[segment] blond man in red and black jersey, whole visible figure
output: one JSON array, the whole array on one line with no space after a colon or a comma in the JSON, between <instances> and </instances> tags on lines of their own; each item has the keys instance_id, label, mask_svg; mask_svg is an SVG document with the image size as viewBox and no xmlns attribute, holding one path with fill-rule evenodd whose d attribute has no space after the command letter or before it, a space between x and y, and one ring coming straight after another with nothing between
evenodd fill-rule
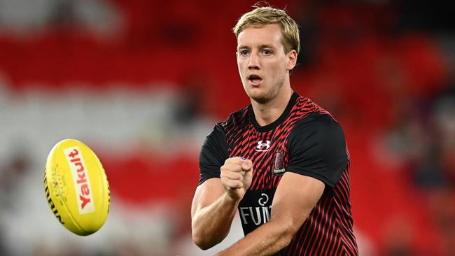
<instances>
[{"instance_id":1,"label":"blond man in red and black jersey, whole visible figure","mask_svg":"<svg viewBox=\"0 0 455 256\"><path fill-rule=\"evenodd\" d=\"M297 24L284 10L260 7L234 32L251 105L204 141L193 241L203 250L220 243L238 209L246 236L218 255L358 255L343 131L290 87Z\"/></svg>"}]
</instances>

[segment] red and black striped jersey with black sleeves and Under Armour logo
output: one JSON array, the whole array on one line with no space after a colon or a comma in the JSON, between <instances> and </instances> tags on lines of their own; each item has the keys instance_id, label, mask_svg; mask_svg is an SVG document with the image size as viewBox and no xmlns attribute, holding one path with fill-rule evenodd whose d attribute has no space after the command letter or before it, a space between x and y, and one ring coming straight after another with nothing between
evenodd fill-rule
<instances>
[{"instance_id":1,"label":"red and black striped jersey with black sleeves and Under Armour logo","mask_svg":"<svg viewBox=\"0 0 455 256\"><path fill-rule=\"evenodd\" d=\"M330 113L293 93L281 116L266 126L250 106L216 124L200 153L200 183L220 178L228 157L253 162L251 186L239 204L244 234L267 222L279 180L290 171L317 178L325 190L290 244L277 255L358 255L351 217L349 153Z\"/></svg>"}]
</instances>

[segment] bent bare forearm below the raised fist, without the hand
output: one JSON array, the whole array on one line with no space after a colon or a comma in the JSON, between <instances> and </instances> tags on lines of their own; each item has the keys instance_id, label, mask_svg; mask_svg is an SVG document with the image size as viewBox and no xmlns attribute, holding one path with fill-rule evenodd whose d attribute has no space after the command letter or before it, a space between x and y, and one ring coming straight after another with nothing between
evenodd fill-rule
<instances>
[{"instance_id":1,"label":"bent bare forearm below the raised fist, without the hand","mask_svg":"<svg viewBox=\"0 0 455 256\"><path fill-rule=\"evenodd\" d=\"M220 243L228 235L239 202L227 194L195 213L192 220L193 241L202 250Z\"/></svg>"}]
</instances>

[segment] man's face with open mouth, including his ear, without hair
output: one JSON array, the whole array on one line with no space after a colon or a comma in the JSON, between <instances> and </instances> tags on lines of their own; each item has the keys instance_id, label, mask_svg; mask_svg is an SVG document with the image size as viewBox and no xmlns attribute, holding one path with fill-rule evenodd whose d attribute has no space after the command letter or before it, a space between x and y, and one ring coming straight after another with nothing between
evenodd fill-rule
<instances>
[{"instance_id":1,"label":"man's face with open mouth, including his ear, without hair","mask_svg":"<svg viewBox=\"0 0 455 256\"><path fill-rule=\"evenodd\" d=\"M248 97L264 104L279 93L295 65L290 64L289 54L283 50L279 24L247 27L240 32L237 65Z\"/></svg>"}]
</instances>

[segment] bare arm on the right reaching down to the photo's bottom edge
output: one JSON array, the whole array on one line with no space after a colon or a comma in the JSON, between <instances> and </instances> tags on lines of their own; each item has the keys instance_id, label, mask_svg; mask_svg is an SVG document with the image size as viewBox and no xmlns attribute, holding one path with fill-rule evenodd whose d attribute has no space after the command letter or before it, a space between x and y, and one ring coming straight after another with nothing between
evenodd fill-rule
<instances>
[{"instance_id":1,"label":"bare arm on the right reaching down to the photo's bottom edge","mask_svg":"<svg viewBox=\"0 0 455 256\"><path fill-rule=\"evenodd\" d=\"M218 255L273 255L288 246L324 192L316 178L286 172L272 202L269 222Z\"/></svg>"}]
</instances>

